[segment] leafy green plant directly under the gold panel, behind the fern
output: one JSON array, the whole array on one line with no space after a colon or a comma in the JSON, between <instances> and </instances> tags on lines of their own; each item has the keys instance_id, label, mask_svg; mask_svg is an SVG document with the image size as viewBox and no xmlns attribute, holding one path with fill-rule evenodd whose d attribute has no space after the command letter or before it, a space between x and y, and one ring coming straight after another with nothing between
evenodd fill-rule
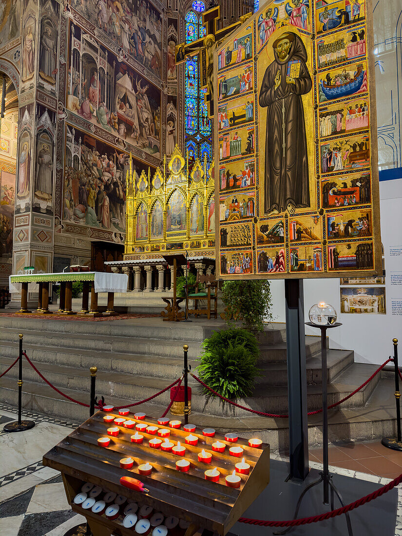
<instances>
[{"instance_id":1,"label":"leafy green plant directly under the gold panel, behind the fern","mask_svg":"<svg viewBox=\"0 0 402 536\"><path fill-rule=\"evenodd\" d=\"M222 285L222 301L225 303L225 320L228 325L241 319L245 329L259 333L264 331L264 321L272 320L271 291L265 279L225 281Z\"/></svg>"}]
</instances>

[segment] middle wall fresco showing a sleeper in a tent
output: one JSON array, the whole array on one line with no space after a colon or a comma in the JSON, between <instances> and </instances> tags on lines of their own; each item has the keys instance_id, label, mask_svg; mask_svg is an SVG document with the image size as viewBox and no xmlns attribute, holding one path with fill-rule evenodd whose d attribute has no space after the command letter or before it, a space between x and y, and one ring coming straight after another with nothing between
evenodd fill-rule
<instances>
[{"instance_id":1,"label":"middle wall fresco showing a sleeper in a tent","mask_svg":"<svg viewBox=\"0 0 402 536\"><path fill-rule=\"evenodd\" d=\"M66 108L126 143L160 156L160 90L110 51L94 47L77 26L71 34Z\"/></svg>"}]
</instances>

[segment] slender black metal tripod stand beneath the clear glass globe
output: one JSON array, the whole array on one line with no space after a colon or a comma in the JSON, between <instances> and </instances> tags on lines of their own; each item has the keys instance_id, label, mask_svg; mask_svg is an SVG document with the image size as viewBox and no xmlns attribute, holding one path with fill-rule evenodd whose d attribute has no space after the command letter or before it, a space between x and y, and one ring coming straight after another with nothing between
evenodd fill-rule
<instances>
[{"instance_id":1,"label":"slender black metal tripod stand beneath the clear glass globe","mask_svg":"<svg viewBox=\"0 0 402 536\"><path fill-rule=\"evenodd\" d=\"M301 503L303 501L303 497L307 494L307 492L313 488L314 486L317 486L319 483L323 482L323 504L327 505L331 503L331 510L333 510L333 499L334 494L337 495L339 502L341 506L345 506L343 498L341 497L340 493L338 492L338 489L335 487L334 483L332 482L332 474L329 472L329 463L328 463L328 393L327 393L327 364L326 364L326 330L330 327L339 327L342 324L340 322L336 322L334 324L327 324L327 325L317 325L313 324L312 322L306 322L306 325L310 327L318 327L321 329L321 369L322 369L322 385L323 385L323 471L319 473L319 479L315 480L314 482L311 482L305 488L302 492L302 494L299 497L299 501L297 501L296 510L293 519L297 519L297 515L299 513L299 509L301 507ZM330 489L331 489L331 498L330 498ZM351 519L349 517L349 513L345 513L346 517L346 524L347 524L347 530L349 536L353 536L352 531L352 524ZM284 531L274 532L274 534L286 534L292 530L292 527L287 527Z\"/></svg>"}]
</instances>

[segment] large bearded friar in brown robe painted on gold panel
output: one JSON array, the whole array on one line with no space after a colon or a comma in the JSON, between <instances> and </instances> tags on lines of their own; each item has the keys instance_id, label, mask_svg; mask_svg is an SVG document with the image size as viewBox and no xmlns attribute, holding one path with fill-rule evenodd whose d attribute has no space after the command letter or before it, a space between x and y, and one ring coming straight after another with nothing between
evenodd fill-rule
<instances>
[{"instance_id":1,"label":"large bearded friar in brown robe painted on gold panel","mask_svg":"<svg viewBox=\"0 0 402 536\"><path fill-rule=\"evenodd\" d=\"M307 51L299 35L282 34L273 43L274 61L267 67L259 106L267 108L264 212L294 213L310 206L306 126L302 95L311 91ZM290 76L289 62L295 63ZM289 69L288 69L289 66Z\"/></svg>"}]
</instances>

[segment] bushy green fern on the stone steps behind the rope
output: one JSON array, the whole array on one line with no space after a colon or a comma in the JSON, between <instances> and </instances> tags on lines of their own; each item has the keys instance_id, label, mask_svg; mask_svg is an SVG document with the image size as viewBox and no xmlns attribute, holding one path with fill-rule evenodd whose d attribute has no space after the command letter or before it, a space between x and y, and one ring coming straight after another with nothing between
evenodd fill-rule
<instances>
[{"instance_id":1,"label":"bushy green fern on the stone steps behind the rope","mask_svg":"<svg viewBox=\"0 0 402 536\"><path fill-rule=\"evenodd\" d=\"M203 343L198 374L214 391L226 398L251 396L254 380L259 376L256 367L259 355L254 334L241 327L214 331ZM211 392L203 388L205 394Z\"/></svg>"}]
</instances>

